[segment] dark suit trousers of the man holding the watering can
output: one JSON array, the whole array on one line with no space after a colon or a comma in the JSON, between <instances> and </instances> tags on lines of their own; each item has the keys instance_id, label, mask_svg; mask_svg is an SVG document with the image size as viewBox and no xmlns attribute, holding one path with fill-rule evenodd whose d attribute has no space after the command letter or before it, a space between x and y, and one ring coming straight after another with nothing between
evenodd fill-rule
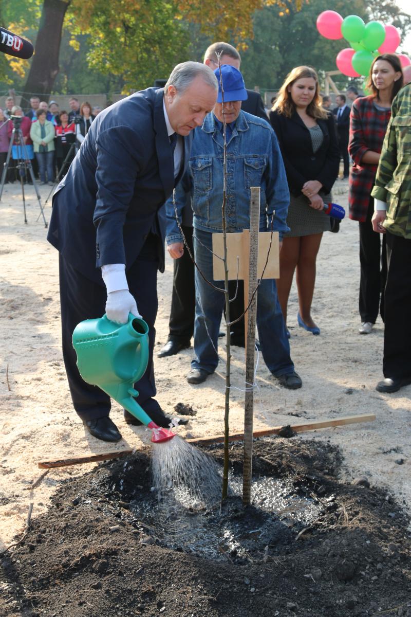
<instances>
[{"instance_id":1,"label":"dark suit trousers of the man holding the watering can","mask_svg":"<svg viewBox=\"0 0 411 617\"><path fill-rule=\"evenodd\" d=\"M149 234L145 244L127 272L129 291L136 298L137 308L149 326L149 364L142 378L134 387L139 391L136 399L145 412L160 408L156 394L153 347L155 318L157 316L157 267L160 238ZM90 386L81 378L76 366L76 352L71 344L76 325L85 319L101 317L105 313L107 292L104 284L98 285L75 270L60 255L60 304L62 315L63 359L70 386L73 406L82 420L108 416L110 397L97 386Z\"/></svg>"}]
</instances>

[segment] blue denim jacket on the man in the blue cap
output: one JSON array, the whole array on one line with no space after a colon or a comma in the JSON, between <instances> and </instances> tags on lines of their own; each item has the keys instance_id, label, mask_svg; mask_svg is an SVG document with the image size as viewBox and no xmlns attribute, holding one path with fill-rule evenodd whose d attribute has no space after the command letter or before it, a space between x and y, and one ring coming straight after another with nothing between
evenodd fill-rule
<instances>
[{"instance_id":1,"label":"blue denim jacket on the man in the blue cap","mask_svg":"<svg viewBox=\"0 0 411 617\"><path fill-rule=\"evenodd\" d=\"M203 126L194 130L187 172L176 188L176 209L181 222L186 194L192 197L193 227L222 231L223 137L213 112ZM260 231L274 231L280 239L289 231L287 211L290 203L287 176L274 130L265 120L241 111L227 144L226 222L227 232L250 228L250 187L261 188ZM173 197L166 202L167 244L182 242L176 222Z\"/></svg>"}]
</instances>

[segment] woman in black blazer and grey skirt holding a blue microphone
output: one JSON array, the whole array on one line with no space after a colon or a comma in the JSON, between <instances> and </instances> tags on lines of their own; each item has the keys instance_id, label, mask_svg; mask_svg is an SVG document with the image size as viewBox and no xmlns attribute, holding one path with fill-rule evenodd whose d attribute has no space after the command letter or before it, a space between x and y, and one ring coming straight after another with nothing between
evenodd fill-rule
<instances>
[{"instance_id":1,"label":"woman in black blazer and grey skirt holding a blue microphone","mask_svg":"<svg viewBox=\"0 0 411 617\"><path fill-rule=\"evenodd\" d=\"M320 334L311 317L315 260L322 233L330 231L323 205L332 201L330 191L340 165L334 119L322 109L320 100L315 70L296 67L287 75L269 115L290 188L290 232L285 234L280 252L279 300L287 323L288 296L296 270L298 324L312 334Z\"/></svg>"}]
</instances>

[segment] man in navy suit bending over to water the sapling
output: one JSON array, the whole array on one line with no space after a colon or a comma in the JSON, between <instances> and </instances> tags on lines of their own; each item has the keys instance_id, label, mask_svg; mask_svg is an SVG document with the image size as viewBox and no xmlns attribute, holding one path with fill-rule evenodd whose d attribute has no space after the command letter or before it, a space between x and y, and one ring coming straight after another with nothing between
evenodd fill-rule
<instances>
[{"instance_id":1,"label":"man in navy suit bending over to water the sapling","mask_svg":"<svg viewBox=\"0 0 411 617\"><path fill-rule=\"evenodd\" d=\"M161 206L188 164L192 136L213 109L218 83L198 62L184 62L164 89L147 88L102 111L91 125L53 197L47 239L60 251L63 358L76 412L104 441L121 434L110 420L110 398L79 375L73 329L105 312L126 323L129 313L149 325L149 364L136 383L137 402L168 426L153 373L157 270L164 270ZM137 300L137 302L136 302ZM138 309L137 309L138 305ZM128 412L126 422L136 424Z\"/></svg>"}]
</instances>

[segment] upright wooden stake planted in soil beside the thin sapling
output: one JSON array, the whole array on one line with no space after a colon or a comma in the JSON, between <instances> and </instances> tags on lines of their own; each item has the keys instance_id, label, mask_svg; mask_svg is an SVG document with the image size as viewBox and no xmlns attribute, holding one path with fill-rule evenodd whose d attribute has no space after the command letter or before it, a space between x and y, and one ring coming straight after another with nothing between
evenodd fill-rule
<instances>
[{"instance_id":1,"label":"upright wooden stake planted in soil beside the thin sapling","mask_svg":"<svg viewBox=\"0 0 411 617\"><path fill-rule=\"evenodd\" d=\"M244 272L244 307L251 302L253 291L257 286L258 267L258 230L260 210L260 188L251 187L250 199L250 233L245 235L248 252L248 268ZM257 294L253 297L244 316L246 356L245 356L245 404L244 404L244 458L243 458L243 503L251 500L251 475L253 463L253 416L254 416L254 350L256 341Z\"/></svg>"}]
</instances>

